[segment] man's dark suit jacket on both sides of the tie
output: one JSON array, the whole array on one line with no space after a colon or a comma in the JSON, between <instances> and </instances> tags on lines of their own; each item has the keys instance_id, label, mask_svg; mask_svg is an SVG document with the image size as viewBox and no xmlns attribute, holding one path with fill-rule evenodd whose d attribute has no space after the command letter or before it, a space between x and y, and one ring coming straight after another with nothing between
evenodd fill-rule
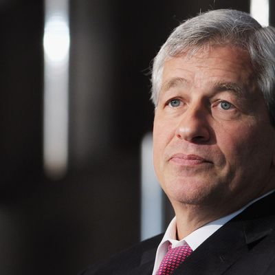
<instances>
[{"instance_id":1,"label":"man's dark suit jacket on both sides of the tie","mask_svg":"<svg viewBox=\"0 0 275 275\"><path fill-rule=\"evenodd\" d=\"M275 275L275 194L256 201L192 252L173 274ZM115 254L81 275L151 275L163 235Z\"/></svg>"}]
</instances>

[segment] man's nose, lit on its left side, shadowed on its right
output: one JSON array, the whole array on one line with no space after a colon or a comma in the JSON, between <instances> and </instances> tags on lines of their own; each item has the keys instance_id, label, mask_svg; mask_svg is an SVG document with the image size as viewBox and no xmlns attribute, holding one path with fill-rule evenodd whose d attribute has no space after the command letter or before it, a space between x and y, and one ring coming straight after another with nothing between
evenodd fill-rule
<instances>
[{"instance_id":1,"label":"man's nose, lit on its left side, shadowed on its right","mask_svg":"<svg viewBox=\"0 0 275 275\"><path fill-rule=\"evenodd\" d=\"M208 111L204 107L189 106L181 115L175 135L188 142L205 143L210 140Z\"/></svg>"}]
</instances>

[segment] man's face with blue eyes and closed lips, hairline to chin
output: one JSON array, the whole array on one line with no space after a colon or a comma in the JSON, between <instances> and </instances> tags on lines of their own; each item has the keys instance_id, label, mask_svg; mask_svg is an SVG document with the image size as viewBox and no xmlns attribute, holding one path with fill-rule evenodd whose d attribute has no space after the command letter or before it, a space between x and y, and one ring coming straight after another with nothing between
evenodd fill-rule
<instances>
[{"instance_id":1,"label":"man's face with blue eyes and closed lips, hairline to chin","mask_svg":"<svg viewBox=\"0 0 275 275\"><path fill-rule=\"evenodd\" d=\"M225 214L272 189L274 137L248 54L212 46L166 61L153 145L172 203Z\"/></svg>"}]
</instances>

